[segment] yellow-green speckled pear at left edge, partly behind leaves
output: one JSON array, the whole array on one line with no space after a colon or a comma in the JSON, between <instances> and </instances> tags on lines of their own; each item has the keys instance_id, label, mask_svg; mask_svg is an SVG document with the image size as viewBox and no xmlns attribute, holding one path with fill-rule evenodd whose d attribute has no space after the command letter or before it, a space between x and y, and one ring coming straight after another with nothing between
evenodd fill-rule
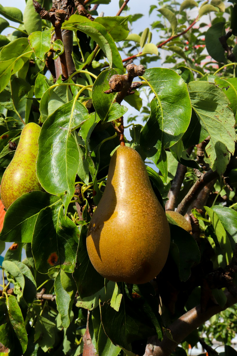
<instances>
[{"instance_id":1,"label":"yellow-green speckled pear at left edge, partly behind leaves","mask_svg":"<svg viewBox=\"0 0 237 356\"><path fill-rule=\"evenodd\" d=\"M40 126L34 122L24 126L14 157L2 176L0 193L6 209L21 195L42 190L36 176L40 130Z\"/></svg>"}]
</instances>

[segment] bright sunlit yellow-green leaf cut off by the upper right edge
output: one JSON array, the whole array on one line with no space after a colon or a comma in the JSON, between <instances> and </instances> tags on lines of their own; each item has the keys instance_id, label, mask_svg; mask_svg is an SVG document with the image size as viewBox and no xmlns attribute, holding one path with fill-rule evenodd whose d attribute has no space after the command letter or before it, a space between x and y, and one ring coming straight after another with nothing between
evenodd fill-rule
<instances>
[{"instance_id":1,"label":"bright sunlit yellow-green leaf cut off by the upper right edge","mask_svg":"<svg viewBox=\"0 0 237 356\"><path fill-rule=\"evenodd\" d=\"M235 121L237 122L237 78L215 78L215 83L225 93L230 101L230 108L235 115Z\"/></svg>"}]
</instances>

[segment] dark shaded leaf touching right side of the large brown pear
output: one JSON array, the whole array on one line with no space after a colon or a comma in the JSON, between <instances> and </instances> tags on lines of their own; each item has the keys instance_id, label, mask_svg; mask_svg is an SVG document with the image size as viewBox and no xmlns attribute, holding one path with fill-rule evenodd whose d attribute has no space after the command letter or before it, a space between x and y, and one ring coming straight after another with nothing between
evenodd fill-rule
<instances>
[{"instance_id":1,"label":"dark shaded leaf touching right side of the large brown pear","mask_svg":"<svg viewBox=\"0 0 237 356\"><path fill-rule=\"evenodd\" d=\"M179 270L179 279L187 281L190 268L200 262L200 251L193 236L177 225L171 225L171 253Z\"/></svg>"}]
</instances>

